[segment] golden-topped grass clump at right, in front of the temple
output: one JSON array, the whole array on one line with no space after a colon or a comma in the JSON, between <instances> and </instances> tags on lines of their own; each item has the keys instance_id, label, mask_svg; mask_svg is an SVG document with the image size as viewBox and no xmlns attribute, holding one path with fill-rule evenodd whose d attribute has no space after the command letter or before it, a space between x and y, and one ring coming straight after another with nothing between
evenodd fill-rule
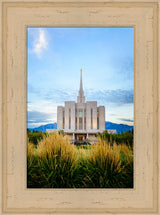
<instances>
[{"instance_id":1,"label":"golden-topped grass clump at right, in front of the temple","mask_svg":"<svg viewBox=\"0 0 160 215\"><path fill-rule=\"evenodd\" d=\"M87 160L86 184L89 187L120 187L123 183L120 154L117 146L111 147L98 140Z\"/></svg>"}]
</instances>

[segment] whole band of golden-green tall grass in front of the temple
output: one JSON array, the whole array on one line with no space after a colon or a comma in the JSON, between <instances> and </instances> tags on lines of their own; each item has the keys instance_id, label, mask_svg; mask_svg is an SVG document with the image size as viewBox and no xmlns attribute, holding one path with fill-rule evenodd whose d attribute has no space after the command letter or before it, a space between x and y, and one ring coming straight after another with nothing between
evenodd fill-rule
<instances>
[{"instance_id":1,"label":"whole band of golden-green tall grass in front of the temple","mask_svg":"<svg viewBox=\"0 0 160 215\"><path fill-rule=\"evenodd\" d=\"M28 188L133 188L133 147L98 137L75 146L58 133L28 140Z\"/></svg>"}]
</instances>

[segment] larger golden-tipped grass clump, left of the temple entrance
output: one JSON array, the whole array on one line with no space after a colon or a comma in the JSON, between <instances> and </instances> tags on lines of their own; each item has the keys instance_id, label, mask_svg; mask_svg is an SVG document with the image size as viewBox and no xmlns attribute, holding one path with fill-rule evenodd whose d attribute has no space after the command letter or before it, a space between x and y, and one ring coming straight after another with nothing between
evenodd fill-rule
<instances>
[{"instance_id":1,"label":"larger golden-tipped grass clump, left of the temple entrance","mask_svg":"<svg viewBox=\"0 0 160 215\"><path fill-rule=\"evenodd\" d=\"M80 168L77 168L75 147L63 135L53 133L39 142L35 148L36 152L33 152L30 146L28 150L29 163L30 157L34 157L34 165L28 164L28 187L71 188L75 185L80 186L81 178L77 172L80 171Z\"/></svg>"}]
</instances>

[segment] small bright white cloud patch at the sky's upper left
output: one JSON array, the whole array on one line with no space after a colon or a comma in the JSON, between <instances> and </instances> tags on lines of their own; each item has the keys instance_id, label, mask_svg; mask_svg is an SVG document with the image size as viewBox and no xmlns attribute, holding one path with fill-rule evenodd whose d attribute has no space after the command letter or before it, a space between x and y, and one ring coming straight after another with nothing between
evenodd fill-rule
<instances>
[{"instance_id":1,"label":"small bright white cloud patch at the sky's upper left","mask_svg":"<svg viewBox=\"0 0 160 215\"><path fill-rule=\"evenodd\" d=\"M42 52L48 48L46 31L42 28L38 29L38 36L35 38L33 43L32 52L38 57L41 57Z\"/></svg>"}]
</instances>

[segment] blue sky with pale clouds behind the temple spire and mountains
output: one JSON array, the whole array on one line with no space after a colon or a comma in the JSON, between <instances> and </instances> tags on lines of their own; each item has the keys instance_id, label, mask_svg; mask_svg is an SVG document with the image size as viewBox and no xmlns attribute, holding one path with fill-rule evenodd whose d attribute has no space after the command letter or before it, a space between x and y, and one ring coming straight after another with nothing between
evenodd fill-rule
<instances>
[{"instance_id":1,"label":"blue sky with pale clouds behind the temple spire and mountains","mask_svg":"<svg viewBox=\"0 0 160 215\"><path fill-rule=\"evenodd\" d=\"M104 105L106 121L133 125L132 27L27 30L28 127L57 121L57 106L76 101L80 69L87 101Z\"/></svg>"}]
</instances>

